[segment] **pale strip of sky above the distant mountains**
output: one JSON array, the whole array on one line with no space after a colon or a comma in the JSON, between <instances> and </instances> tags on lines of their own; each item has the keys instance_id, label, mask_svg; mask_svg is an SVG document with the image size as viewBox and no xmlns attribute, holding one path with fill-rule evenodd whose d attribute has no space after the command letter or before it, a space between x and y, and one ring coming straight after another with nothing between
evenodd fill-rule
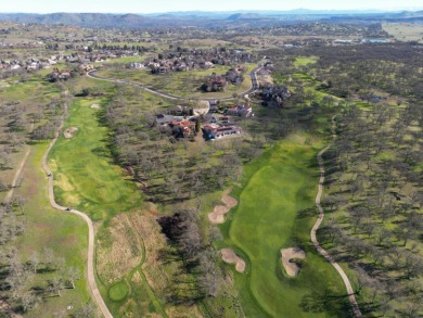
<instances>
[{"instance_id":1,"label":"pale strip of sky above the distant mountains","mask_svg":"<svg viewBox=\"0 0 423 318\"><path fill-rule=\"evenodd\" d=\"M423 10L422 0L0 0L0 12L158 13L239 10Z\"/></svg>"}]
</instances>

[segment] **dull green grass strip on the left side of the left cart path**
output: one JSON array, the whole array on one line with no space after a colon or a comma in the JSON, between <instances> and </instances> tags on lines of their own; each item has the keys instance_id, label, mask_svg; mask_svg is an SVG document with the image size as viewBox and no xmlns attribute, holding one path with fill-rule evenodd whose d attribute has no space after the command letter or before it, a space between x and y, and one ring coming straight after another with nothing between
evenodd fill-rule
<instances>
[{"instance_id":1,"label":"dull green grass strip on the left side of the left cart path","mask_svg":"<svg viewBox=\"0 0 423 318\"><path fill-rule=\"evenodd\" d=\"M53 313L66 310L69 305L78 309L90 300L86 280L87 225L77 216L50 207L47 177L41 168L41 157L47 145L39 143L31 147L31 155L23 170L24 181L15 192L27 200L24 215L26 230L18 237L16 250L21 259L26 262L33 252L37 252L42 259L43 249L51 249L56 257L65 259L64 276L69 266L79 268L84 275L75 281L75 290L66 289L61 292L60 297L46 298L42 305L30 310L27 317L54 316ZM61 277L62 274L38 274L33 279L39 285L46 285L47 280L55 275Z\"/></svg>"}]
</instances>

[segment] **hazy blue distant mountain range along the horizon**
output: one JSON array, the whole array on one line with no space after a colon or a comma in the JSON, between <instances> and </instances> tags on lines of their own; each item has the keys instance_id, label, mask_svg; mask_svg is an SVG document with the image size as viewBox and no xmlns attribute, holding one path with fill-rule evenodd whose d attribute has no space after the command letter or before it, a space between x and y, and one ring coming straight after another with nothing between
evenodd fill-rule
<instances>
[{"instance_id":1,"label":"hazy blue distant mountain range along the horizon","mask_svg":"<svg viewBox=\"0 0 423 318\"><path fill-rule=\"evenodd\" d=\"M307 21L423 22L423 11L236 11L236 12L169 12L156 14L105 13L0 13L0 21L16 23L63 24L80 27L228 27L278 25Z\"/></svg>"}]
</instances>

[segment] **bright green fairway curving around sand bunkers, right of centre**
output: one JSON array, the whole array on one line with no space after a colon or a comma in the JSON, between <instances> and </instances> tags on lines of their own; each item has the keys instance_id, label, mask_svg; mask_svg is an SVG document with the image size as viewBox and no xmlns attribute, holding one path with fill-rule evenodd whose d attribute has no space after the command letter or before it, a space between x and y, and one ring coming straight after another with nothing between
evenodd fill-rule
<instances>
[{"instance_id":1,"label":"bright green fairway curving around sand bunkers, right of centre","mask_svg":"<svg viewBox=\"0 0 423 318\"><path fill-rule=\"evenodd\" d=\"M297 135L282 141L246 167L229 243L249 260L248 274L236 274L235 281L251 317L347 315L342 280L309 237L317 216L316 153L322 144L304 140ZM307 254L295 278L286 276L280 260L280 249L291 246Z\"/></svg>"}]
</instances>

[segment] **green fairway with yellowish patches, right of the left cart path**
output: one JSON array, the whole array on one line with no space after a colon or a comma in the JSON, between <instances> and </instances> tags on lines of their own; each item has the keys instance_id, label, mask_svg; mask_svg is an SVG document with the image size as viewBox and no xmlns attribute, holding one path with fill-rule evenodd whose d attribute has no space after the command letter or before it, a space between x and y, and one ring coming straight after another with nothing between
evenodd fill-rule
<instances>
[{"instance_id":1,"label":"green fairway with yellowish patches, right of the left cart path","mask_svg":"<svg viewBox=\"0 0 423 318\"><path fill-rule=\"evenodd\" d=\"M93 220L105 220L140 204L136 186L123 178L121 169L112 163L107 148L107 128L98 122L101 99L75 99L69 106L64 129L78 128L73 138L61 135L50 154L57 202L89 214Z\"/></svg>"}]
</instances>

